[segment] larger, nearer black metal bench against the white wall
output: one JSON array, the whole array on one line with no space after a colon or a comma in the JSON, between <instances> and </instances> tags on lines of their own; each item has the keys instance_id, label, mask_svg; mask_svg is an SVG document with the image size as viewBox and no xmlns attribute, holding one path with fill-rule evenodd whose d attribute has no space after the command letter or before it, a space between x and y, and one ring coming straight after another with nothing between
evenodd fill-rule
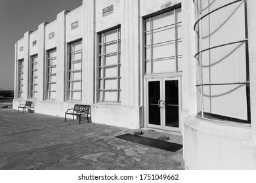
<instances>
[{"instance_id":1,"label":"larger, nearer black metal bench against the white wall","mask_svg":"<svg viewBox=\"0 0 256 183\"><path fill-rule=\"evenodd\" d=\"M72 112L68 112L69 110L72 110ZM74 108L69 108L66 112L65 112L65 122L66 122L66 115L72 115L73 116L73 120L74 116L79 116L79 124L81 124L81 116L85 116L87 117L87 122L89 122L89 115L91 118L91 106L89 105L77 105L75 104Z\"/></svg>"}]
</instances>

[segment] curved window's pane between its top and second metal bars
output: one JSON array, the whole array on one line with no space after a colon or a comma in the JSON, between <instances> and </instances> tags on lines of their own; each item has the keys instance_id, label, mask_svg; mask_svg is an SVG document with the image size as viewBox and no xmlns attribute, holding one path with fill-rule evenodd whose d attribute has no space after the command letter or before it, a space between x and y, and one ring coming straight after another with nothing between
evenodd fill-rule
<instances>
[{"instance_id":1,"label":"curved window's pane between its top and second metal bars","mask_svg":"<svg viewBox=\"0 0 256 183\"><path fill-rule=\"evenodd\" d=\"M203 49L245 39L244 14L244 1L241 1L203 18Z\"/></svg>"}]
</instances>

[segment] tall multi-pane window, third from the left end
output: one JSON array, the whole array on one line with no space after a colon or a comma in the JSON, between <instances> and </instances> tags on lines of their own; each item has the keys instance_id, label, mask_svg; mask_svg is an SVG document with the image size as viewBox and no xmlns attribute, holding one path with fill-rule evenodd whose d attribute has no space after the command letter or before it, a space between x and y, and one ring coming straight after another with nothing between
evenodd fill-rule
<instances>
[{"instance_id":1,"label":"tall multi-pane window, third from the left end","mask_svg":"<svg viewBox=\"0 0 256 183\"><path fill-rule=\"evenodd\" d=\"M56 49L48 52L47 99L56 99Z\"/></svg>"}]
</instances>

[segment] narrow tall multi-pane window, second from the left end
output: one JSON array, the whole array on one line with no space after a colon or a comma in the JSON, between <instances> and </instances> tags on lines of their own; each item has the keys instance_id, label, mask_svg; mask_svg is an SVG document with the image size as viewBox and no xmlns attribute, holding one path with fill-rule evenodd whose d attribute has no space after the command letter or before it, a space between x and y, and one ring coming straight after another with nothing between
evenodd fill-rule
<instances>
[{"instance_id":1,"label":"narrow tall multi-pane window, second from the left end","mask_svg":"<svg viewBox=\"0 0 256 183\"><path fill-rule=\"evenodd\" d=\"M31 98L37 98L37 55L31 57Z\"/></svg>"}]
</instances>

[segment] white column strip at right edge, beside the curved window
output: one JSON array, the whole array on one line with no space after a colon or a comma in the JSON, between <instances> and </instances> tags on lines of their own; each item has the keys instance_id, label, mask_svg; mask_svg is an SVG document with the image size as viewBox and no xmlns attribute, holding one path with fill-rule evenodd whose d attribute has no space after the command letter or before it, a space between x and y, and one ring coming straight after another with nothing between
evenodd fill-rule
<instances>
[{"instance_id":1,"label":"white column strip at right edge, beside the curved window","mask_svg":"<svg viewBox=\"0 0 256 183\"><path fill-rule=\"evenodd\" d=\"M256 1L247 0L252 139L256 141Z\"/></svg>"}]
</instances>

